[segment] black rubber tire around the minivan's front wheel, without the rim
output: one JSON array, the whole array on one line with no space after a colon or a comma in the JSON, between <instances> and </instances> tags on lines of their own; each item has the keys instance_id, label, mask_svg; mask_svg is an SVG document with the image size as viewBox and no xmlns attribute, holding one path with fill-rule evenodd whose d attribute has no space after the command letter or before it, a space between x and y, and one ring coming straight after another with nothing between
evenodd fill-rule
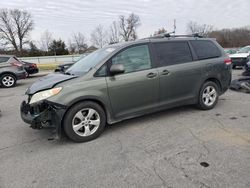
<instances>
[{"instance_id":1,"label":"black rubber tire around the minivan's front wheel, without the rim","mask_svg":"<svg viewBox=\"0 0 250 188\"><path fill-rule=\"evenodd\" d=\"M100 124L99 124L97 130L89 136L80 136L73 130L74 117L79 111L81 111L83 109L95 110L98 113L98 117L100 118ZM77 103L76 105L74 105L66 113L64 120L63 120L63 128L65 131L65 134L68 136L68 138L70 138L74 142L87 142L87 141L90 141L90 140L97 138L104 131L105 125L106 125L106 114L105 114L103 108L100 105L98 105L97 103L94 103L91 101L84 101L84 102L80 102L80 103ZM85 130L84 130L84 132L85 132Z\"/></svg>"}]
</instances>

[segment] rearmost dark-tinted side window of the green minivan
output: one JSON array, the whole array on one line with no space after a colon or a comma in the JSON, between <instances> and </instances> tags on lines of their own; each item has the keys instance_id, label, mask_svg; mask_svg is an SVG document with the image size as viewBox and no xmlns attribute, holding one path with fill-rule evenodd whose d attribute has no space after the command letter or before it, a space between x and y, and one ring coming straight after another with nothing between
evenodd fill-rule
<instances>
[{"instance_id":1,"label":"rearmost dark-tinted side window of the green minivan","mask_svg":"<svg viewBox=\"0 0 250 188\"><path fill-rule=\"evenodd\" d=\"M221 56L218 47L211 41L191 41L199 60Z\"/></svg>"}]
</instances>

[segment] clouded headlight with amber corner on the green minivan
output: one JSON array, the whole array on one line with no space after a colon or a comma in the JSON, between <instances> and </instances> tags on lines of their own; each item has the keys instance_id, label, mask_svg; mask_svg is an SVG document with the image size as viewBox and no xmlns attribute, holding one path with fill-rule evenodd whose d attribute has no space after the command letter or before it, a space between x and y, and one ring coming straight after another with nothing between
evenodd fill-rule
<instances>
[{"instance_id":1,"label":"clouded headlight with amber corner on the green minivan","mask_svg":"<svg viewBox=\"0 0 250 188\"><path fill-rule=\"evenodd\" d=\"M31 97L30 104L34 104L36 102L39 102L49 97L52 97L54 95L57 95L58 93L60 93L61 90L62 90L62 87L57 87L57 88L38 92Z\"/></svg>"}]
</instances>

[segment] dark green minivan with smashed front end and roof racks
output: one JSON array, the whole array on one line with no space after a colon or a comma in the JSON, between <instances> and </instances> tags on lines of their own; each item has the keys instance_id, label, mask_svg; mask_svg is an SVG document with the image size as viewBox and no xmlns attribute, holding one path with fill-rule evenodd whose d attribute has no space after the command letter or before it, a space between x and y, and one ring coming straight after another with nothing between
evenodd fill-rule
<instances>
[{"instance_id":1,"label":"dark green minivan with smashed front end and roof racks","mask_svg":"<svg viewBox=\"0 0 250 188\"><path fill-rule=\"evenodd\" d=\"M212 109L231 82L231 60L214 39L155 37L99 49L26 91L21 117L75 142L107 124L195 104Z\"/></svg>"}]
</instances>

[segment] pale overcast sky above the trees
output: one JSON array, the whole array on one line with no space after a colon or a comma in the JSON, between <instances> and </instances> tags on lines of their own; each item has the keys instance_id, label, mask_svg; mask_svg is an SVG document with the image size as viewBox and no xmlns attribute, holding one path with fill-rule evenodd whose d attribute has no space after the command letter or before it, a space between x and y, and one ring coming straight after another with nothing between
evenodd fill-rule
<instances>
[{"instance_id":1,"label":"pale overcast sky above the trees","mask_svg":"<svg viewBox=\"0 0 250 188\"><path fill-rule=\"evenodd\" d=\"M35 22L33 40L46 29L66 41L78 31L89 38L98 24L108 27L119 15L131 12L141 18L139 37L161 27L172 31L174 19L180 34L190 20L217 29L250 25L250 0L0 0L0 8L29 11Z\"/></svg>"}]
</instances>

